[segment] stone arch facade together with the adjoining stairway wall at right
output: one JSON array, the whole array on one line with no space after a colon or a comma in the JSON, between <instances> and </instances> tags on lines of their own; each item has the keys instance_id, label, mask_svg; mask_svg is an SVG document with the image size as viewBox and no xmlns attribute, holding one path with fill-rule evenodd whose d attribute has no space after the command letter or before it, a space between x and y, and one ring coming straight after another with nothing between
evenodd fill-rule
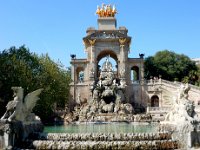
<instances>
[{"instance_id":1,"label":"stone arch facade together with the adjoining stairway wall at right","mask_svg":"<svg viewBox=\"0 0 200 150\"><path fill-rule=\"evenodd\" d=\"M71 60L71 101L85 103L92 99L91 85L100 77L99 62L111 57L116 62L115 78L125 79L125 97L134 108L140 107L149 112L163 112L171 107L173 96L180 83L169 82L161 78L149 81L144 79L143 54L139 58L129 58L131 37L126 27L117 28L113 16L97 19L98 29L89 27L83 38L87 58ZM136 75L133 78L133 72ZM189 99L200 104L200 89L191 86Z\"/></svg>"}]
</instances>

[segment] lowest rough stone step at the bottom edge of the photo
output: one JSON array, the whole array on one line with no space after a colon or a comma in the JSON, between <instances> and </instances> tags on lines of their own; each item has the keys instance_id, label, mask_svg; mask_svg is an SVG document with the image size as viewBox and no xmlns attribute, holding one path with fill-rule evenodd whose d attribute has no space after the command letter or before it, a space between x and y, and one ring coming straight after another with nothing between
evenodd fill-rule
<instances>
[{"instance_id":1,"label":"lowest rough stone step at the bottom edge of the photo","mask_svg":"<svg viewBox=\"0 0 200 150\"><path fill-rule=\"evenodd\" d=\"M34 149L177 149L178 143L173 140L145 140L145 141L54 141L35 140Z\"/></svg>"}]
</instances>

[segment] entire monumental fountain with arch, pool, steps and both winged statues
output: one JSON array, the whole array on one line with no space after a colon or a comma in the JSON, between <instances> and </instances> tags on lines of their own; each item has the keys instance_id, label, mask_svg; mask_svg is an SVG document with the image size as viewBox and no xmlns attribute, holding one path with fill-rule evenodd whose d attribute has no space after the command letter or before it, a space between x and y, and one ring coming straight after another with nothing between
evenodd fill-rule
<instances>
[{"instance_id":1,"label":"entire monumental fountain with arch, pool, steps and both winged statues","mask_svg":"<svg viewBox=\"0 0 200 150\"><path fill-rule=\"evenodd\" d=\"M154 126L150 100L153 109L164 108L167 90L163 85L167 83L169 88L172 83L162 83L161 78L145 82L144 54L128 58L131 37L125 27L116 28L116 12L115 6L98 7L98 29L88 28L83 38L88 58L71 55L72 112L64 116L65 126L46 127L42 132L39 118L31 113L42 90L28 94L24 103L23 89L15 87L14 100L0 120L0 148L125 150L200 146L199 117L188 98L189 85L179 88L173 104L167 105L171 110L162 114L164 121L161 118ZM100 70L98 62L103 57L106 60ZM117 71L110 57L116 61ZM131 71L136 74L134 82ZM167 103L172 95L167 95ZM141 113L138 108L148 111L137 114Z\"/></svg>"}]
</instances>

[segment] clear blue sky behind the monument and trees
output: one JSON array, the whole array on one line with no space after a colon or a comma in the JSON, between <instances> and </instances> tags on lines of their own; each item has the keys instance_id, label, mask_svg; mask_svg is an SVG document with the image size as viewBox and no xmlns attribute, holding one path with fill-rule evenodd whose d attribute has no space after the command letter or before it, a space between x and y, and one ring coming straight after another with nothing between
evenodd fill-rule
<instances>
[{"instance_id":1,"label":"clear blue sky behind the monument and trees","mask_svg":"<svg viewBox=\"0 0 200 150\"><path fill-rule=\"evenodd\" d=\"M97 28L97 5L115 4L117 25L132 37L129 57L172 50L200 58L199 0L6 0L0 2L0 50L23 44L70 66L86 58L82 38Z\"/></svg>"}]
</instances>

